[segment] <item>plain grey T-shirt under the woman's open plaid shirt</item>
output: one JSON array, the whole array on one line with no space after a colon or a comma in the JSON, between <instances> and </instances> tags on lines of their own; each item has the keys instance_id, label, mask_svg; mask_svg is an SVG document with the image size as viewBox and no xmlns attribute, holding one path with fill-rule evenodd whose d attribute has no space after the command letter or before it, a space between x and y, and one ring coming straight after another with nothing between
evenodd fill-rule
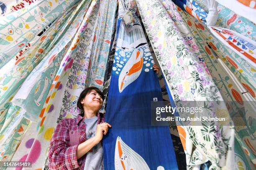
<instances>
[{"instance_id":1,"label":"plain grey T-shirt under the woman's open plaid shirt","mask_svg":"<svg viewBox=\"0 0 256 170\"><path fill-rule=\"evenodd\" d=\"M86 139L90 139L95 136L97 129L97 116L84 119L86 124ZM92 152L86 153L86 159L84 163L84 170L104 170L103 165L103 148L101 142L92 148Z\"/></svg>"}]
</instances>

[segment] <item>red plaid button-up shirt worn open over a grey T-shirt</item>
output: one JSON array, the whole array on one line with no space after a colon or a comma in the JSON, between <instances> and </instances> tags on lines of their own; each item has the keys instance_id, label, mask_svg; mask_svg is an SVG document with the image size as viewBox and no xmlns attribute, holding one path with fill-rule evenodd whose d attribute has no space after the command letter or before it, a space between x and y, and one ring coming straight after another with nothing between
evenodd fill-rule
<instances>
[{"instance_id":1,"label":"red plaid button-up shirt worn open over a grey T-shirt","mask_svg":"<svg viewBox=\"0 0 256 170\"><path fill-rule=\"evenodd\" d=\"M97 124L104 122L98 113ZM77 160L77 146L86 140L86 124L82 115L63 119L56 126L49 145L49 168L54 170L83 170L86 154Z\"/></svg>"}]
</instances>

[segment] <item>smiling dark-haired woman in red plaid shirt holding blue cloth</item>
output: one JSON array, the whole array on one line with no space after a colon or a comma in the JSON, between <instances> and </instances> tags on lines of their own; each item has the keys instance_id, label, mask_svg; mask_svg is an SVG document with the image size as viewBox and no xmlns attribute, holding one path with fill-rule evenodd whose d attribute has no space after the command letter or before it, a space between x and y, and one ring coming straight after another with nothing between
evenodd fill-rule
<instances>
[{"instance_id":1,"label":"smiling dark-haired woman in red plaid shirt holding blue cloth","mask_svg":"<svg viewBox=\"0 0 256 170\"><path fill-rule=\"evenodd\" d=\"M98 111L103 94L97 87L88 87L79 96L81 114L63 119L56 126L49 145L50 169L103 170L103 135L111 125Z\"/></svg>"}]
</instances>

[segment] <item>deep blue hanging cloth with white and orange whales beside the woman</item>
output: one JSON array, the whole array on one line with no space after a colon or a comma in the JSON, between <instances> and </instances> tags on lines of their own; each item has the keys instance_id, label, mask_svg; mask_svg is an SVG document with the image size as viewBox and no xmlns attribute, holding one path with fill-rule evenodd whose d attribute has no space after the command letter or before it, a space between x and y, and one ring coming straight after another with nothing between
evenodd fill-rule
<instances>
[{"instance_id":1,"label":"deep blue hanging cloth with white and orange whales beside the woman","mask_svg":"<svg viewBox=\"0 0 256 170\"><path fill-rule=\"evenodd\" d=\"M119 1L117 45L105 117L112 128L103 139L104 168L175 170L178 167L169 128L151 126L148 106L153 98L162 98L146 37L135 13L131 27L126 27L120 17L125 13L124 5L133 6L129 4L131 1Z\"/></svg>"}]
</instances>

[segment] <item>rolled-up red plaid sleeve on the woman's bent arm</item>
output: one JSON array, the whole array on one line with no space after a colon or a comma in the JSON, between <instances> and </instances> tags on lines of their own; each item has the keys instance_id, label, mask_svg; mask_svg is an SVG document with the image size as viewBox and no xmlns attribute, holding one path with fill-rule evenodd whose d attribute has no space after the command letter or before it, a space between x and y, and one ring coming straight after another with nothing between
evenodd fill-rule
<instances>
[{"instance_id":1,"label":"rolled-up red plaid sleeve on the woman's bent arm","mask_svg":"<svg viewBox=\"0 0 256 170\"><path fill-rule=\"evenodd\" d=\"M49 168L72 170L78 168L77 145L69 146L68 120L64 119L56 126L49 145Z\"/></svg>"}]
</instances>

